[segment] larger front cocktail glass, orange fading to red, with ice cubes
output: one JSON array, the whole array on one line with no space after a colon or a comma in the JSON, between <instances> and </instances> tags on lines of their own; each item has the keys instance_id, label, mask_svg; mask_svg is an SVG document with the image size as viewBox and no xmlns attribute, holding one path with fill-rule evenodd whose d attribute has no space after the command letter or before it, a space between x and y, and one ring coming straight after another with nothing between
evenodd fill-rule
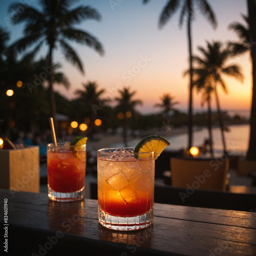
<instances>
[{"instance_id":1,"label":"larger front cocktail glass, orange fading to red, with ice cubes","mask_svg":"<svg viewBox=\"0 0 256 256\"><path fill-rule=\"evenodd\" d=\"M98 215L103 226L115 230L145 228L153 222L154 152L134 148L97 151Z\"/></svg>"}]
</instances>

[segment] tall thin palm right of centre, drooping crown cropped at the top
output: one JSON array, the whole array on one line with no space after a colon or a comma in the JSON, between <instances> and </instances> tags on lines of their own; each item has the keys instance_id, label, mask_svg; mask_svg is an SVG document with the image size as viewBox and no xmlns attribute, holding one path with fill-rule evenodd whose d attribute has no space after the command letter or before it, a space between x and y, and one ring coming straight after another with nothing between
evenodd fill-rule
<instances>
[{"instance_id":1,"label":"tall thin palm right of centre, drooping crown cropped at the top","mask_svg":"<svg viewBox=\"0 0 256 256\"><path fill-rule=\"evenodd\" d=\"M149 0L143 0L143 3L147 3ZM195 8L199 7L201 13L206 16L211 25L215 28L217 26L215 14L206 0L169 0L164 6L160 18L159 27L162 28L168 20L174 15L174 13L181 7L180 27L186 23L187 36L188 36L188 51L189 51L189 108L188 108L188 148L192 145L192 131L193 131L193 63L192 63L192 39L191 39L191 21L195 17ZM186 19L186 20L184 20Z\"/></svg>"}]
</instances>

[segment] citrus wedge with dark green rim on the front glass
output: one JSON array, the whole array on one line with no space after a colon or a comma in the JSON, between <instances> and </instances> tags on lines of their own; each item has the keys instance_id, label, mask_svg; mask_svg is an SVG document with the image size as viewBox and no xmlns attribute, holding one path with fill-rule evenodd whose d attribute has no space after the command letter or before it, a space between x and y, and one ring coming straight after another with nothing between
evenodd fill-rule
<instances>
[{"instance_id":1,"label":"citrus wedge with dark green rim on the front glass","mask_svg":"<svg viewBox=\"0 0 256 256\"><path fill-rule=\"evenodd\" d=\"M170 144L164 137L158 135L150 135L142 139L135 147L134 153L155 152L157 159L163 152L164 148ZM148 154L138 154L138 158L147 158Z\"/></svg>"}]
</instances>

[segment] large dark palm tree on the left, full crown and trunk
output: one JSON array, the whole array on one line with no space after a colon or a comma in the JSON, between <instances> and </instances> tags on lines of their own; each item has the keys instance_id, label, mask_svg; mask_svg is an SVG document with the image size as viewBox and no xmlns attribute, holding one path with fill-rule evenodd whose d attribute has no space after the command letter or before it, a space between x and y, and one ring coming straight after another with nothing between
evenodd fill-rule
<instances>
[{"instance_id":1,"label":"large dark palm tree on the left, full crown and trunk","mask_svg":"<svg viewBox=\"0 0 256 256\"><path fill-rule=\"evenodd\" d=\"M49 47L49 89L51 93L51 112L55 125L56 106L53 93L53 49L59 46L65 58L82 73L84 73L82 62L73 46L68 43L69 40L92 47L99 54L103 54L102 46L94 36L86 31L73 27L73 25L79 24L82 20L100 20L100 14L97 10L89 6L78 6L71 9L75 2L76 1L70 0L40 0L39 10L21 3L13 3L9 7L10 12L13 9L18 10L23 8L24 10L22 13L19 13L15 19L12 19L14 24L26 22L24 29L25 36L16 41L11 49L22 52L32 45L36 45L34 52L37 52L43 42L46 42Z\"/></svg>"}]
</instances>

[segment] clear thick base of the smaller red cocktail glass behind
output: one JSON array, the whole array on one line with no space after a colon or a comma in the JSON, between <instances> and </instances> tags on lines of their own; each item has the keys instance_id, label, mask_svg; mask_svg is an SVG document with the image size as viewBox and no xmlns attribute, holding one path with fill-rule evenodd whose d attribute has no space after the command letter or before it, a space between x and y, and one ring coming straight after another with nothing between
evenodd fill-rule
<instances>
[{"instance_id":1,"label":"clear thick base of the smaller red cocktail glass behind","mask_svg":"<svg viewBox=\"0 0 256 256\"><path fill-rule=\"evenodd\" d=\"M48 197L52 201L57 202L74 202L82 200L84 197L84 186L77 191L70 192L70 193L61 193L54 191L51 189L51 187L48 185Z\"/></svg>"}]
</instances>

